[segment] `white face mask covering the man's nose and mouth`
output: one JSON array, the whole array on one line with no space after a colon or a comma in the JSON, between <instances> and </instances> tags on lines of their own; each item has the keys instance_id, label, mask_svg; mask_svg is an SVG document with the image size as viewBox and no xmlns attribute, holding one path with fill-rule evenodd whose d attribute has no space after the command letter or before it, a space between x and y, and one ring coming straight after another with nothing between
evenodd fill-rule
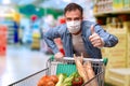
<instances>
[{"instance_id":1,"label":"white face mask covering the man's nose and mouth","mask_svg":"<svg viewBox=\"0 0 130 86\"><path fill-rule=\"evenodd\" d=\"M80 20L66 22L66 24L70 33L77 33L80 30L81 27Z\"/></svg>"}]
</instances>

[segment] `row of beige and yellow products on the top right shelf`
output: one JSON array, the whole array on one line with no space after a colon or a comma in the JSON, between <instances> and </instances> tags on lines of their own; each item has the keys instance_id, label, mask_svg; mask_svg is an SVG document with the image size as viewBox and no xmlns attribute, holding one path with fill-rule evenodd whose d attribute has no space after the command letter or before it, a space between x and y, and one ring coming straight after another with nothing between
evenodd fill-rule
<instances>
[{"instance_id":1,"label":"row of beige and yellow products on the top right shelf","mask_svg":"<svg viewBox=\"0 0 130 86\"><path fill-rule=\"evenodd\" d=\"M121 12L130 9L130 0L95 0L93 12L108 13L108 12Z\"/></svg>"}]
</instances>

